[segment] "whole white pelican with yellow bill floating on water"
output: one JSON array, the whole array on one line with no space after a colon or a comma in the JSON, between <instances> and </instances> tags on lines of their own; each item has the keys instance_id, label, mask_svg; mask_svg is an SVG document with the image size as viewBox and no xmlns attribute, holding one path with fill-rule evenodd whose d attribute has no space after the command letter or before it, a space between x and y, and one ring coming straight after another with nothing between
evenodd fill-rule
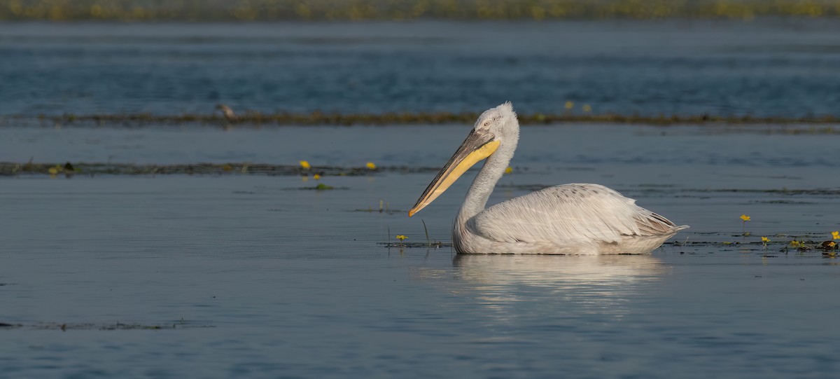
<instances>
[{"instance_id":1,"label":"whole white pelican with yellow bill floating on water","mask_svg":"<svg viewBox=\"0 0 840 379\"><path fill-rule=\"evenodd\" d=\"M452 229L452 243L460 254L645 254L688 228L598 184L548 187L485 209L518 140L519 121L510 102L481 113L408 216L486 158Z\"/></svg>"}]
</instances>

